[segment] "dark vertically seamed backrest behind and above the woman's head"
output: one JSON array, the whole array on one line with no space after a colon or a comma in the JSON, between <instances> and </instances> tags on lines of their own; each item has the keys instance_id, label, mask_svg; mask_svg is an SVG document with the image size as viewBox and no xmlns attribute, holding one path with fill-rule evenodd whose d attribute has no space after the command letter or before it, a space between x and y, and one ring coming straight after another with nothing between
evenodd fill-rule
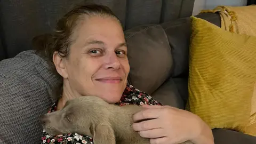
<instances>
[{"instance_id":1,"label":"dark vertically seamed backrest behind and above the woman's head","mask_svg":"<svg viewBox=\"0 0 256 144\"><path fill-rule=\"evenodd\" d=\"M31 49L31 39L48 33L55 22L86 0L0 1L0 60ZM189 17L194 0L90 0L105 4L121 19L124 29Z\"/></svg>"}]
</instances>

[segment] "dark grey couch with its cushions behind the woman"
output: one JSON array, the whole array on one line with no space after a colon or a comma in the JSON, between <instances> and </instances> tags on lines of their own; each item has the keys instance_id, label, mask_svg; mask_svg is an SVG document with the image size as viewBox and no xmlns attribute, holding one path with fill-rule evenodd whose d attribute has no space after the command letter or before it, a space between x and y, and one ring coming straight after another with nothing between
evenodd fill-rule
<instances>
[{"instance_id":1,"label":"dark grey couch with its cushions behind the woman","mask_svg":"<svg viewBox=\"0 0 256 144\"><path fill-rule=\"evenodd\" d=\"M188 98L188 52L193 0L108 0L121 19L129 47L129 83L164 105L185 108ZM0 1L0 143L39 143L38 117L56 98L60 82L31 47L67 10L84 1ZM220 26L218 14L197 17ZM17 55L18 54L18 55ZM215 143L255 143L243 133L213 130Z\"/></svg>"}]
</instances>

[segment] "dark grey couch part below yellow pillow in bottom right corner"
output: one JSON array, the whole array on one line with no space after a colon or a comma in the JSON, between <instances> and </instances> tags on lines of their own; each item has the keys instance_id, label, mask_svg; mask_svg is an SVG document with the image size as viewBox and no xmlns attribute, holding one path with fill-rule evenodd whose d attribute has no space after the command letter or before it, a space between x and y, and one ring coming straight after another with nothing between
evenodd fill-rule
<instances>
[{"instance_id":1,"label":"dark grey couch part below yellow pillow in bottom right corner","mask_svg":"<svg viewBox=\"0 0 256 144\"><path fill-rule=\"evenodd\" d=\"M256 137L247 135L241 132L226 130L226 129L213 129L214 143L215 144L255 144Z\"/></svg>"}]
</instances>

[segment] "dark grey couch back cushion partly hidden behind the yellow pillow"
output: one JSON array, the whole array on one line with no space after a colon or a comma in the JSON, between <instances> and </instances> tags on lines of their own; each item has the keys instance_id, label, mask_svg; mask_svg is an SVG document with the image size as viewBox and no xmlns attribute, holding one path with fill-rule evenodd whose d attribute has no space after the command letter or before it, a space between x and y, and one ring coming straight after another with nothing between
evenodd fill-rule
<instances>
[{"instance_id":1,"label":"dark grey couch back cushion partly hidden behind the yellow pillow","mask_svg":"<svg viewBox=\"0 0 256 144\"><path fill-rule=\"evenodd\" d=\"M220 16L218 14L204 13L197 15L197 17L205 19L220 27ZM187 78L189 41L191 33L190 20L189 18L178 19L162 23L161 26L165 30L172 50L172 77Z\"/></svg>"}]
</instances>

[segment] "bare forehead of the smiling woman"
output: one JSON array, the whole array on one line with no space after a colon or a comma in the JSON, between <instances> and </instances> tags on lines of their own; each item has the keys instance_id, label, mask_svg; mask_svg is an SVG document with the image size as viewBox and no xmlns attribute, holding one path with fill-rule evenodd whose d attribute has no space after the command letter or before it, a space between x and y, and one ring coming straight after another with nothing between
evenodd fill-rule
<instances>
[{"instance_id":1,"label":"bare forehead of the smiling woman","mask_svg":"<svg viewBox=\"0 0 256 144\"><path fill-rule=\"evenodd\" d=\"M125 43L122 26L113 18L87 19L73 34L76 41L83 45Z\"/></svg>"}]
</instances>

